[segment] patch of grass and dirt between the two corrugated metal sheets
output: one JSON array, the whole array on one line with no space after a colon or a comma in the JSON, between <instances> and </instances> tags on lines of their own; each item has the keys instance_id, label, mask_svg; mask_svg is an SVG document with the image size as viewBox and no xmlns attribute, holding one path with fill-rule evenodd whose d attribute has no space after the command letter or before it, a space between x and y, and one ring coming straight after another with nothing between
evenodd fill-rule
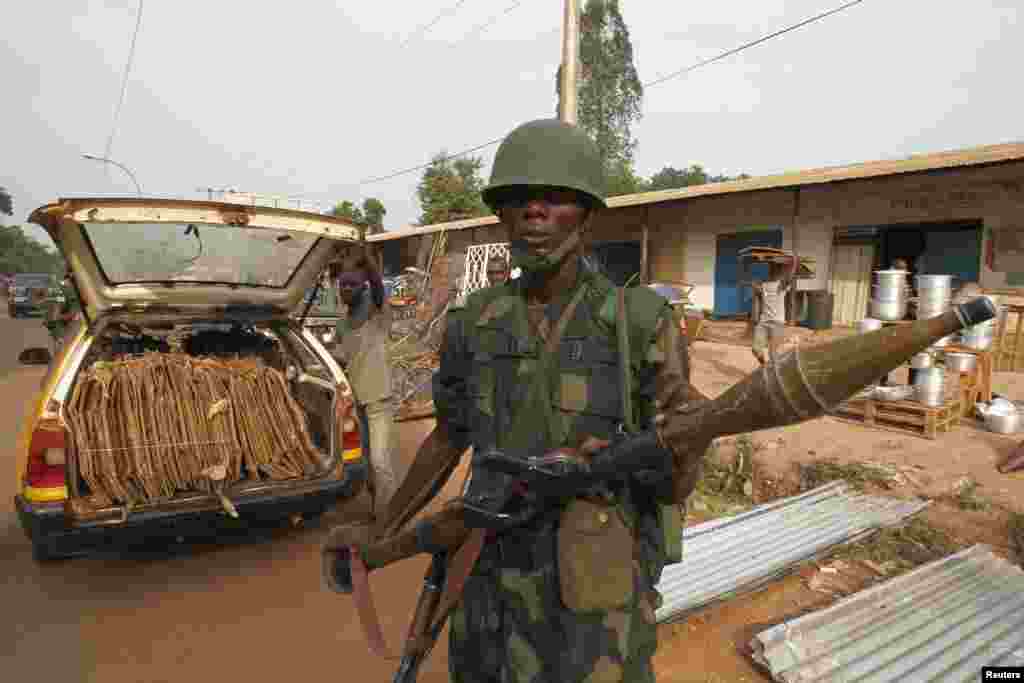
<instances>
[{"instance_id":1,"label":"patch of grass and dirt between the two corrugated metal sheets","mask_svg":"<svg viewBox=\"0 0 1024 683\"><path fill-rule=\"evenodd\" d=\"M911 517L902 526L884 528L868 539L843 546L834 557L870 560L886 567L890 575L951 555L961 550L948 533L924 519Z\"/></svg>"}]
</instances>

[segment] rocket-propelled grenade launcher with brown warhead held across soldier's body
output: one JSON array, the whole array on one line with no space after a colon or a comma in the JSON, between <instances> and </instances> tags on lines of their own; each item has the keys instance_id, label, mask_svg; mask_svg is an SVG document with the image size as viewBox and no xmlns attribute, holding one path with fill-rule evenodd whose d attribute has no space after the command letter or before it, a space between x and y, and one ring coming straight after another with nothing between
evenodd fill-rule
<instances>
[{"instance_id":1,"label":"rocket-propelled grenade launcher with brown warhead held across soldier's body","mask_svg":"<svg viewBox=\"0 0 1024 683\"><path fill-rule=\"evenodd\" d=\"M995 315L991 301L979 297L936 317L794 349L692 412L678 414L667 407L668 418L656 433L649 429L620 439L589 461L562 452L540 457L482 453L474 458L460 504L365 546L362 559L377 568L423 552L454 551L472 527L515 526L551 498L579 495L595 481L651 471L664 477L673 467L686 471L714 439L820 417L939 339ZM517 492L518 483L525 484L525 495L522 487Z\"/></svg>"}]
</instances>

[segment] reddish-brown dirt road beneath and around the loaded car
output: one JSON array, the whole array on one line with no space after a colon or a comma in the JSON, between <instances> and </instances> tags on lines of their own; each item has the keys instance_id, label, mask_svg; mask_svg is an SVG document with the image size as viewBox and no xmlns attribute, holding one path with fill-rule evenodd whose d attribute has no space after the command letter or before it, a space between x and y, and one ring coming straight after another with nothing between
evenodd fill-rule
<instances>
[{"instance_id":1,"label":"reddish-brown dirt road beneath and around the loaded car","mask_svg":"<svg viewBox=\"0 0 1024 683\"><path fill-rule=\"evenodd\" d=\"M394 664L369 653L350 600L319 580L319 529L283 528L219 544L33 562L14 514L13 444L42 371L19 368L26 345L45 343L38 319L0 318L0 672L4 680L273 682L390 680ZM431 422L404 423L411 457ZM334 513L338 514L337 511ZM373 577L389 644L397 647L425 561ZM446 644L424 682L446 680Z\"/></svg>"}]
</instances>

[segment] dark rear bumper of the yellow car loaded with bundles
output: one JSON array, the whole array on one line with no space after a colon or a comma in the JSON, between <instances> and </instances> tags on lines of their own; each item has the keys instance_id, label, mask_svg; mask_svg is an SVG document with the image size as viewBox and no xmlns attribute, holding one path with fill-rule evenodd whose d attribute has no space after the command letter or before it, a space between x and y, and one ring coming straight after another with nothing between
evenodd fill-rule
<instances>
[{"instance_id":1,"label":"dark rear bumper of the yellow car loaded with bundles","mask_svg":"<svg viewBox=\"0 0 1024 683\"><path fill-rule=\"evenodd\" d=\"M219 526L268 522L293 514L318 513L338 500L351 496L366 480L362 463L348 465L340 479L329 479L301 492L249 494L231 498L239 519L228 517L218 504L207 502L201 509L153 508L127 514L124 521L72 524L62 502L33 503L14 497L18 521L34 543L58 543L61 551L88 550L119 540L209 535Z\"/></svg>"}]
</instances>

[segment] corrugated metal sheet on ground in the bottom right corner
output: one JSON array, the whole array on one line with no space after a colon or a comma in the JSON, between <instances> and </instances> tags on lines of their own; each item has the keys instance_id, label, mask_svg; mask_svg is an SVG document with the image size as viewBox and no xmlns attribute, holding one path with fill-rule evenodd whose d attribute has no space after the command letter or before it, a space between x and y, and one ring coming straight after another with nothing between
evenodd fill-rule
<instances>
[{"instance_id":1,"label":"corrugated metal sheet on ground in the bottom right corner","mask_svg":"<svg viewBox=\"0 0 1024 683\"><path fill-rule=\"evenodd\" d=\"M777 681L978 681L1024 666L1024 571L973 546L752 641Z\"/></svg>"}]
</instances>

